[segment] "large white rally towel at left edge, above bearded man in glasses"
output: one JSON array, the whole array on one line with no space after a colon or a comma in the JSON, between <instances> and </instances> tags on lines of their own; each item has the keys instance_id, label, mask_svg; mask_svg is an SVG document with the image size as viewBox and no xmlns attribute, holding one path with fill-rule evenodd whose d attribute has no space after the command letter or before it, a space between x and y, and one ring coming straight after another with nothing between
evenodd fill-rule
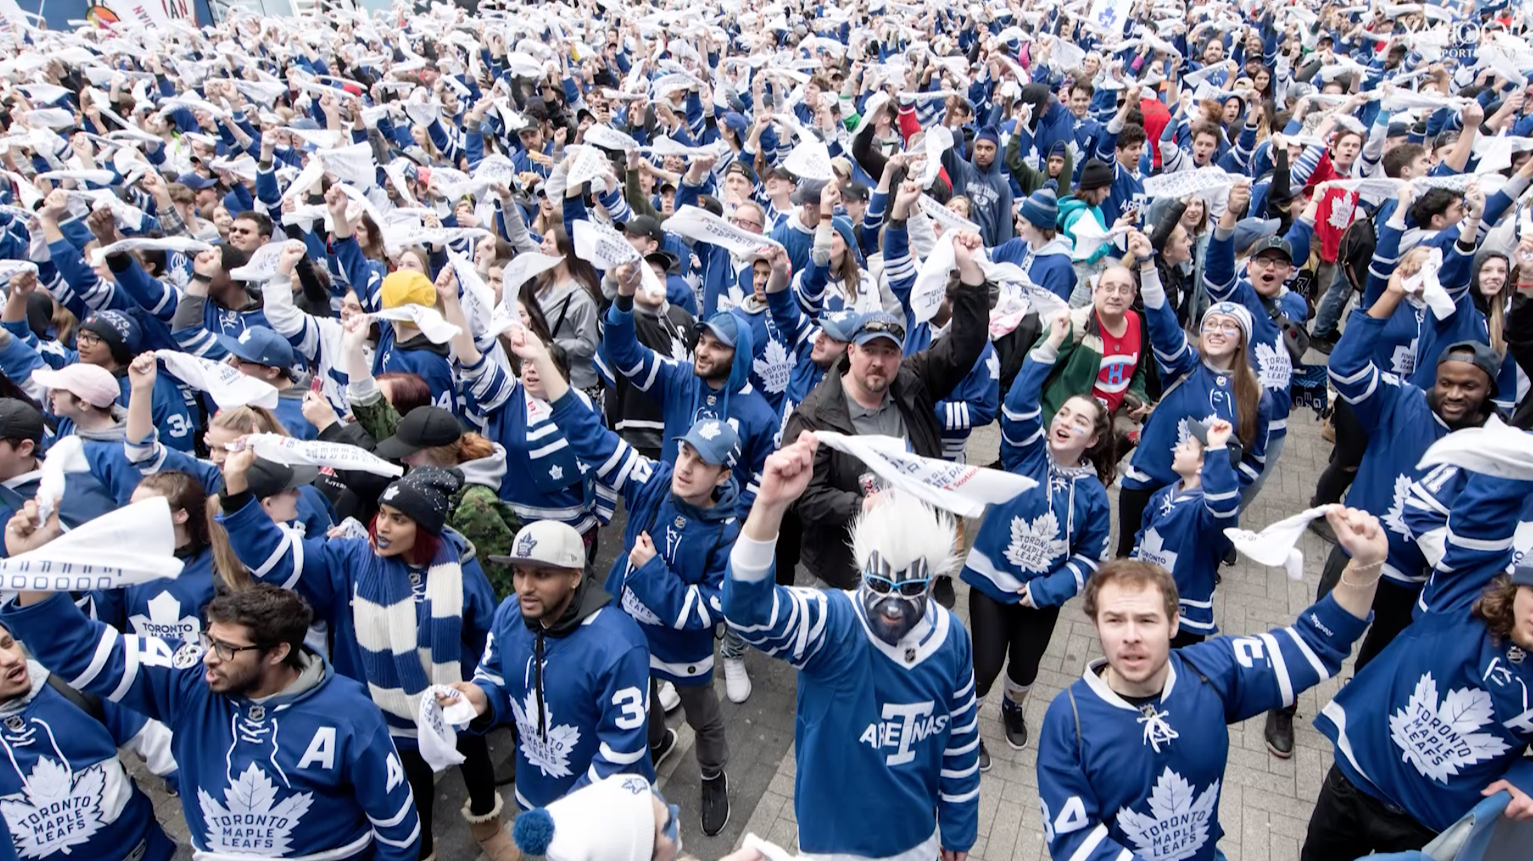
<instances>
[{"instance_id":1,"label":"large white rally towel at left edge, above bearded man in glasses","mask_svg":"<svg viewBox=\"0 0 1533 861\"><path fill-rule=\"evenodd\" d=\"M80 524L37 550L0 559L0 588L121 588L178 576L181 567L170 501L149 496Z\"/></svg>"}]
</instances>

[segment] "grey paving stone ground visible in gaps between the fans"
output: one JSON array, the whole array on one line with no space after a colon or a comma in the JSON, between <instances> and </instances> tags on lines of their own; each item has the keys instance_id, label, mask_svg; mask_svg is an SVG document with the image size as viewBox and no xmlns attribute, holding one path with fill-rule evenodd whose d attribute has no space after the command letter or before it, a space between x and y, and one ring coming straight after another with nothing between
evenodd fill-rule
<instances>
[{"instance_id":1,"label":"grey paving stone ground visible in gaps between the fans","mask_svg":"<svg viewBox=\"0 0 1533 861\"><path fill-rule=\"evenodd\" d=\"M995 426L980 429L970 441L970 458L990 463L1000 444ZM1309 411L1295 411L1289 420L1288 449L1277 472L1268 480L1262 495L1242 518L1242 525L1260 529L1272 521L1308 507L1315 478L1326 464L1331 446L1320 438L1320 424ZM1111 492L1116 496L1116 490ZM1116 513L1116 504L1114 504ZM619 515L621 516L621 515ZM973 535L970 524L969 533ZM599 571L606 571L621 539L621 521L604 530ZM1114 538L1116 541L1116 538ZM1305 535L1305 581L1289 581L1282 570L1263 568L1246 561L1223 570L1223 584L1214 597L1216 619L1225 633L1243 634L1288 625L1314 599L1315 584L1329 545ZM809 585L799 571L800 585ZM967 620L967 587L958 584L957 610ZM1081 613L1081 602L1070 601L1059 616L1053 642L1039 668L1038 682L1027 702L1026 714L1032 728L1042 722L1049 702L1075 680L1085 662L1099 654L1090 622ZM716 686L724 700L728 725L731 761L730 783L733 815L728 827L705 838L698 824L698 764L691 754L691 731L671 714L681 748L661 769L661 786L671 801L682 806L682 836L688 853L713 861L739 846L753 832L783 847L797 843L793 809L793 709L794 674L786 665L759 653L747 659L754 680L751 699L742 705L724 699L724 682ZM1229 728L1229 764L1220 797L1219 818L1225 836L1219 847L1229 861L1297 861L1305 827L1325 772L1331 768L1331 745L1314 729L1311 719L1318 708L1351 677L1351 660L1338 679L1332 679L1298 699L1295 720L1295 751L1291 760L1268 754L1262 740L1260 717ZM1049 858L1044 846L1038 809L1036 752L1007 748L1000 719L1001 686L996 685L980 712L980 731L993 758L993 768L980 784L980 840L969 858L973 861L1033 861ZM492 757L501 774L509 774L510 738L497 732L491 738ZM141 774L141 772L138 772ZM146 783L141 780L141 783ZM155 787L158 781L147 778ZM161 791L152 792L155 810L166 829L179 843L187 843L181 803ZM506 792L509 797L509 792ZM437 858L474 859L477 847L458 818L464 791L452 772L438 775L434 804L437 818ZM851 810L849 810L851 812ZM184 850L190 858L190 852ZM179 858L179 856L178 856Z\"/></svg>"}]
</instances>

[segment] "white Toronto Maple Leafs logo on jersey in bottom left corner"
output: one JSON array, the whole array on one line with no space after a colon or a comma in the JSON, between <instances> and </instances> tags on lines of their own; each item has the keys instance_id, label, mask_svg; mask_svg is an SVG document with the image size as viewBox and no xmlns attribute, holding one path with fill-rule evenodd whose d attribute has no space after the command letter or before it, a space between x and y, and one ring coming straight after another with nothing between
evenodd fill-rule
<instances>
[{"instance_id":1,"label":"white Toronto Maple Leafs logo on jersey in bottom left corner","mask_svg":"<svg viewBox=\"0 0 1533 861\"><path fill-rule=\"evenodd\" d=\"M101 818L104 768L106 763L97 763L72 774L63 758L38 757L21 781L21 791L0 798L0 814L5 814L11 829L17 856L69 855L72 847L89 841L106 826Z\"/></svg>"}]
</instances>

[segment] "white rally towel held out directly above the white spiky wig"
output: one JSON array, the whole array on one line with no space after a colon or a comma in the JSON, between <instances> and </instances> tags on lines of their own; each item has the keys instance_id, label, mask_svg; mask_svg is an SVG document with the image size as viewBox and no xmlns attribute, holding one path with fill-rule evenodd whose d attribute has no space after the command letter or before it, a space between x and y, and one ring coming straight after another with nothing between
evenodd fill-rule
<instances>
[{"instance_id":1,"label":"white rally towel held out directly above the white spiky wig","mask_svg":"<svg viewBox=\"0 0 1533 861\"><path fill-rule=\"evenodd\" d=\"M891 487L921 499L927 506L966 518L984 513L986 506L1007 503L1038 483L1023 475L941 458L923 458L904 450L897 437L848 437L834 430L817 430L820 444L845 452L868 466Z\"/></svg>"}]
</instances>

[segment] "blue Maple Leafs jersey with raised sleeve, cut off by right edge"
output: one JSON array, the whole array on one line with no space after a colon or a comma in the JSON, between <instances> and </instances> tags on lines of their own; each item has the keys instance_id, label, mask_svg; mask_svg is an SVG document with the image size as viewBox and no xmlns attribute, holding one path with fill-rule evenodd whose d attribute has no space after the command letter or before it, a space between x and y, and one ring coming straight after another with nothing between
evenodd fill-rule
<instances>
[{"instance_id":1,"label":"blue Maple Leafs jersey with raised sleeve, cut off by right edge","mask_svg":"<svg viewBox=\"0 0 1533 861\"><path fill-rule=\"evenodd\" d=\"M1533 663L1473 614L1507 567L1530 493L1527 481L1469 480L1449 515L1430 608L1315 717L1354 786L1432 830L1453 824L1495 780L1533 789L1533 763L1522 758L1533 740Z\"/></svg>"}]
</instances>

